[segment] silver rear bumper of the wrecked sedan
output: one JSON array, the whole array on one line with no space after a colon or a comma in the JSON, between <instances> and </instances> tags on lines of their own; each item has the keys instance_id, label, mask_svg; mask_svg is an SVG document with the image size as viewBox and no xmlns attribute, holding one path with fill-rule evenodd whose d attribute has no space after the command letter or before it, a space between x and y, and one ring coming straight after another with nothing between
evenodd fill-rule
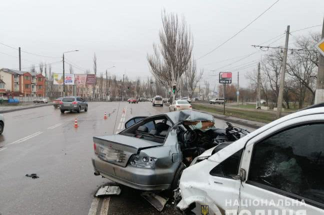
<instances>
[{"instance_id":1,"label":"silver rear bumper of the wrecked sedan","mask_svg":"<svg viewBox=\"0 0 324 215\"><path fill-rule=\"evenodd\" d=\"M172 176L169 169L158 172L155 168L137 168L130 165L122 167L103 161L95 156L91 159L94 172L99 172L101 176L125 186L140 190L162 190L170 188ZM165 183L165 181L169 181L170 183Z\"/></svg>"}]
</instances>

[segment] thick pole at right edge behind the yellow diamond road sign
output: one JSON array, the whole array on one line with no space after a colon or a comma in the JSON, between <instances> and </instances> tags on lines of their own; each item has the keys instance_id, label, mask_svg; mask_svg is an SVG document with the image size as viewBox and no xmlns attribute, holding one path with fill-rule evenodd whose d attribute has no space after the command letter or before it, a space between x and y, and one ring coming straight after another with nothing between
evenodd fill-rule
<instances>
[{"instance_id":1,"label":"thick pole at right edge behind the yellow diamond road sign","mask_svg":"<svg viewBox=\"0 0 324 215\"><path fill-rule=\"evenodd\" d=\"M324 38L324 20L322 27L322 38ZM318 70L317 70L317 81L315 91L315 104L324 102L324 56L319 54L318 59Z\"/></svg>"}]
</instances>

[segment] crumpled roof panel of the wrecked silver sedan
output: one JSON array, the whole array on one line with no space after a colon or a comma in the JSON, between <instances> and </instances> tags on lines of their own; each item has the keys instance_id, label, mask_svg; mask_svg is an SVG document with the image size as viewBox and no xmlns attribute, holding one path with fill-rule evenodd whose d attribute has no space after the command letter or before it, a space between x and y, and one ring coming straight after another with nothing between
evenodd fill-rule
<instances>
[{"instance_id":1,"label":"crumpled roof panel of the wrecked silver sedan","mask_svg":"<svg viewBox=\"0 0 324 215\"><path fill-rule=\"evenodd\" d=\"M213 121L213 116L207 113L202 113L194 110L181 110L181 111L173 111L165 113L173 123L177 123L180 121L198 121L198 120L206 120Z\"/></svg>"}]
</instances>

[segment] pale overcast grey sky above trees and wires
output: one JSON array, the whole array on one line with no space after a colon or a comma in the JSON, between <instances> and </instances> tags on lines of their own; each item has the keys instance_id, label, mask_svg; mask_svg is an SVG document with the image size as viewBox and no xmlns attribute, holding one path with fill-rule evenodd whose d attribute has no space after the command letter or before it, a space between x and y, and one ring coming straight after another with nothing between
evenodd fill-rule
<instances>
[{"instance_id":1,"label":"pale overcast grey sky above trees and wires","mask_svg":"<svg viewBox=\"0 0 324 215\"><path fill-rule=\"evenodd\" d=\"M194 38L193 55L201 57L228 39L247 23L256 18L275 0L1 0L0 42L21 47L40 55L21 53L23 67L59 61L62 52L67 61L81 69L92 71L93 53L97 56L98 72L115 74L118 78L126 73L131 79L151 76L146 53L152 52L152 43L158 42L161 27L161 10L184 15ZM260 44L290 31L322 24L324 0L279 0L260 18L229 42L212 53L197 60L199 69L204 69L201 80L217 84L212 69L233 71L253 65L266 51L258 51L236 63L237 59L257 49ZM294 36L319 32L321 26L293 33ZM280 37L277 37L278 39ZM271 43L270 40L267 43ZM284 36L272 45L283 45ZM293 37L289 46L293 46ZM18 52L0 44L0 67L18 68ZM56 58L55 58L56 57ZM234 58L236 57L236 58ZM228 59L234 58L234 59ZM221 61L221 62L219 62ZM228 65L230 64L230 65ZM226 66L227 65L227 66ZM241 65L241 66L240 66ZM247 67L245 66L245 67ZM62 63L52 64L53 71L62 72ZM66 70L68 65L65 64ZM255 70L248 67L240 70L240 85L247 86L244 74ZM227 70L226 70L227 69ZM24 68L22 70L29 70Z\"/></svg>"}]
</instances>

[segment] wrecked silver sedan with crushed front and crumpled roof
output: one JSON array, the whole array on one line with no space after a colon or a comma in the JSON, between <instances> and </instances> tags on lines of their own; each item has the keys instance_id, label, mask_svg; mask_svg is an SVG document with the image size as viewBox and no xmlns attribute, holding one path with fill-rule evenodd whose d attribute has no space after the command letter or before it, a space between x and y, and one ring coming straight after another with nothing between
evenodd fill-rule
<instances>
[{"instance_id":1,"label":"wrecked silver sedan with crushed front and crumpled roof","mask_svg":"<svg viewBox=\"0 0 324 215\"><path fill-rule=\"evenodd\" d=\"M220 142L246 134L214 126L213 116L192 110L136 116L118 134L94 136L94 174L140 190L173 190L182 170Z\"/></svg>"}]
</instances>

